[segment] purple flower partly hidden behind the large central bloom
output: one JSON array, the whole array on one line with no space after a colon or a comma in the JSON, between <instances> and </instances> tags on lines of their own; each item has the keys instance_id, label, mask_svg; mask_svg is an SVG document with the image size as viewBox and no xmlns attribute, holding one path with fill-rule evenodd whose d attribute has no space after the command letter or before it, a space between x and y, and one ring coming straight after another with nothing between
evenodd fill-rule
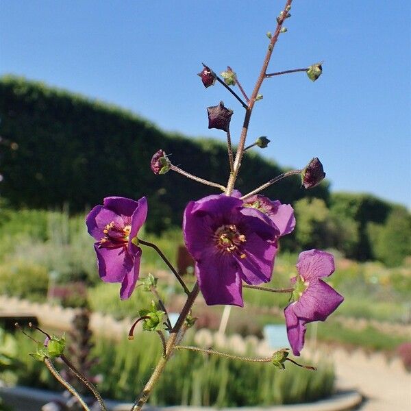
<instances>
[{"instance_id":1,"label":"purple flower partly hidden behind the large central bloom","mask_svg":"<svg viewBox=\"0 0 411 411\"><path fill-rule=\"evenodd\" d=\"M271 201L257 194L245 199L243 206L256 208L266 214L278 227L280 236L290 234L295 227L294 210L290 204L282 204L278 200Z\"/></svg>"}]
</instances>

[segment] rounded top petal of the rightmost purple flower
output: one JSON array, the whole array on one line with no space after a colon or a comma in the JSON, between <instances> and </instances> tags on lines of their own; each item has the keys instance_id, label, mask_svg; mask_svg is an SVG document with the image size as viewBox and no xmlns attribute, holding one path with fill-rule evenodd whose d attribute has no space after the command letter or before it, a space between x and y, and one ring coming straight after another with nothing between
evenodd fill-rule
<instances>
[{"instance_id":1,"label":"rounded top petal of the rightmost purple flower","mask_svg":"<svg viewBox=\"0 0 411 411\"><path fill-rule=\"evenodd\" d=\"M328 277L335 270L334 256L316 249L303 251L298 258L297 270L309 282L315 278Z\"/></svg>"}]
</instances>

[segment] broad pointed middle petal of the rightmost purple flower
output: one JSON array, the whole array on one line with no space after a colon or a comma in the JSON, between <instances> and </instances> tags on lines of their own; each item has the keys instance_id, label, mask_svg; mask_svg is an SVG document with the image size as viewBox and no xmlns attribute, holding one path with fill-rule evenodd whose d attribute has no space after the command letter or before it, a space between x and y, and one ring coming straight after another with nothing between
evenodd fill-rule
<instances>
[{"instance_id":1,"label":"broad pointed middle petal of the rightmost purple flower","mask_svg":"<svg viewBox=\"0 0 411 411\"><path fill-rule=\"evenodd\" d=\"M329 314L344 301L344 297L334 288L323 282L322 279L314 279L303 292L294 305L294 312L300 319L306 322L325 321Z\"/></svg>"}]
</instances>

